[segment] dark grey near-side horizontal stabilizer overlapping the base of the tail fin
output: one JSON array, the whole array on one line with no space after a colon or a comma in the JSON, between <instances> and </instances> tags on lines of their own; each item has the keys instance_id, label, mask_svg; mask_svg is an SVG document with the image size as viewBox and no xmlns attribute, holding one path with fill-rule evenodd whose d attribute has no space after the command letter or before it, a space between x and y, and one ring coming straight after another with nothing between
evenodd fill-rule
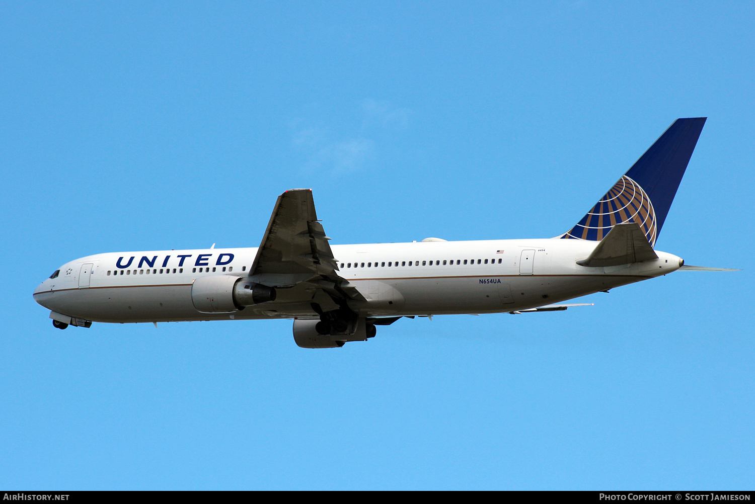
<instances>
[{"instance_id":1,"label":"dark grey near-side horizontal stabilizer overlapping the base of the tail fin","mask_svg":"<svg viewBox=\"0 0 755 504\"><path fill-rule=\"evenodd\" d=\"M658 259L645 233L637 223L616 224L603 238L590 257L577 261L580 266L619 266Z\"/></svg>"}]
</instances>

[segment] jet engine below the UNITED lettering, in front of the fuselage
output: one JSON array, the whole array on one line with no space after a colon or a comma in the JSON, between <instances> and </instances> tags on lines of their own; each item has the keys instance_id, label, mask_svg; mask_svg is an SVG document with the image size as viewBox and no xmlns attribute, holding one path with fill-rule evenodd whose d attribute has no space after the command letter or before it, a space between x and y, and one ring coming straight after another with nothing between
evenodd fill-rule
<instances>
[{"instance_id":1,"label":"jet engine below the UNITED lettering, in front of the fuselage","mask_svg":"<svg viewBox=\"0 0 755 504\"><path fill-rule=\"evenodd\" d=\"M238 312L245 306L276 299L276 290L267 285L245 281L233 275L211 275L197 278L191 287L191 300L197 312Z\"/></svg>"}]
</instances>

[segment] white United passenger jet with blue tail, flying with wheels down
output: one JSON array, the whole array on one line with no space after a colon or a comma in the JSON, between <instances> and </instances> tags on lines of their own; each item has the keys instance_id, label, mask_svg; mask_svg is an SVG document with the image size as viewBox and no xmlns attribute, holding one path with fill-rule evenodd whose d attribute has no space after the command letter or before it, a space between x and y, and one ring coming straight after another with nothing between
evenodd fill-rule
<instances>
[{"instance_id":1,"label":"white United passenger jet with blue tail, flying with wheels down","mask_svg":"<svg viewBox=\"0 0 755 504\"><path fill-rule=\"evenodd\" d=\"M294 320L303 348L366 341L402 317L554 312L685 265L655 250L706 118L679 118L555 238L330 245L311 189L278 197L259 247L116 252L63 264L33 293L54 327Z\"/></svg>"}]
</instances>

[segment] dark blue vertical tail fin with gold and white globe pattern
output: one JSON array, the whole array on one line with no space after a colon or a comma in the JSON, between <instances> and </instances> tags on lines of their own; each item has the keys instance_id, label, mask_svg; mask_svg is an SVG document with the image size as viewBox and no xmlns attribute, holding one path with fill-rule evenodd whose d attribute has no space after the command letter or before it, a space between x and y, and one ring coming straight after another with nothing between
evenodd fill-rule
<instances>
[{"instance_id":1,"label":"dark blue vertical tail fin with gold and white globe pattern","mask_svg":"<svg viewBox=\"0 0 755 504\"><path fill-rule=\"evenodd\" d=\"M655 247L671 201L705 124L704 117L680 118L561 238L601 241L616 224L635 222Z\"/></svg>"}]
</instances>

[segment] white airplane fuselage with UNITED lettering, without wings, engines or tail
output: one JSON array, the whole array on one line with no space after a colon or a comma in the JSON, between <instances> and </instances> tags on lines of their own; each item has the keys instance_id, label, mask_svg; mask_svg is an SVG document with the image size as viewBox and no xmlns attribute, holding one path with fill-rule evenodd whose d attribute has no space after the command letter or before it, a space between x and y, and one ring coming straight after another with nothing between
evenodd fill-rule
<instances>
[{"instance_id":1,"label":"white airplane fuselage with UNITED lettering, without wings, engines or tail","mask_svg":"<svg viewBox=\"0 0 755 504\"><path fill-rule=\"evenodd\" d=\"M666 275L682 263L657 252L657 260L643 263L578 266L596 244L541 238L333 245L332 250L338 275L366 299L349 302L364 316L513 312ZM325 311L337 308L305 282L279 288L275 301L233 313L195 309L191 289L196 278L247 276L256 254L257 247L251 247L82 257L61 266L57 278L43 281L34 299L71 317L121 323L316 318L312 303Z\"/></svg>"}]
</instances>

